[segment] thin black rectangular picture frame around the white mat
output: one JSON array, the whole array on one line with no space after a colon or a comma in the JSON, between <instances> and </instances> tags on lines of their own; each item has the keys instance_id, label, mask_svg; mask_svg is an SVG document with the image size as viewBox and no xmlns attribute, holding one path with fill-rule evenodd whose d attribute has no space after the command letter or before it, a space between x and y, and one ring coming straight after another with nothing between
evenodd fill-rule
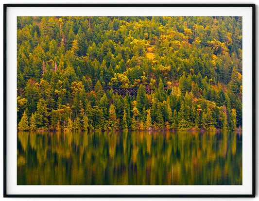
<instances>
[{"instance_id":1,"label":"thin black rectangular picture frame around the white mat","mask_svg":"<svg viewBox=\"0 0 259 201\"><path fill-rule=\"evenodd\" d=\"M25 7L192 7L192 8L199 8L199 7L250 7L252 8L252 193L251 194L8 194L7 192L7 61L8 61L8 55L7 55L7 37L9 37L7 33L7 10L10 7L18 7L20 9L23 9ZM98 198L110 198L110 197L120 197L120 198L171 198L171 197L196 197L196 198L212 198L212 197L255 197L255 133L256 133L256 127L255 127L255 109L256 109L256 99L255 99L255 39L256 39L256 27L255 27L255 16L256 16L256 6L255 4L4 4L3 5L3 28L4 28L4 34L3 34L3 197L42 197L42 198L73 198L73 197L98 197Z\"/></svg>"}]
</instances>

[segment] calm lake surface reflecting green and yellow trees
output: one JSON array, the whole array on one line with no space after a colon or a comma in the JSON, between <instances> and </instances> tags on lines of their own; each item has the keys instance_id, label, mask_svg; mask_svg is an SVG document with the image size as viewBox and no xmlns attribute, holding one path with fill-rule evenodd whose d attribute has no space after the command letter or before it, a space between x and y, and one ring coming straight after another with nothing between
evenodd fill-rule
<instances>
[{"instance_id":1,"label":"calm lake surface reflecting green and yellow trees","mask_svg":"<svg viewBox=\"0 0 259 201\"><path fill-rule=\"evenodd\" d=\"M18 132L18 185L241 185L242 132Z\"/></svg>"}]
</instances>

